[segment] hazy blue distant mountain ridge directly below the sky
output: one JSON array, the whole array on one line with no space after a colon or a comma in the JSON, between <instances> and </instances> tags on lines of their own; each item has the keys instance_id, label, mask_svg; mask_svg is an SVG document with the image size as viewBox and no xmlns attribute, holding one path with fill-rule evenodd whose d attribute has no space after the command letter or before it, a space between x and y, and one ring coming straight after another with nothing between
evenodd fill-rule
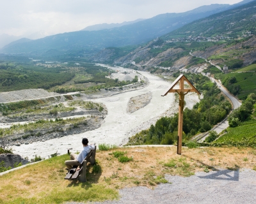
<instances>
[{"instance_id":1,"label":"hazy blue distant mountain ridge directly below the sky","mask_svg":"<svg viewBox=\"0 0 256 204\"><path fill-rule=\"evenodd\" d=\"M247 0L248 1L248 0ZM242 3L246 3L243 1ZM249 0L250 1L250 0ZM241 3L240 3L241 4ZM129 25L100 31L76 31L56 34L24 43L14 43L1 49L4 54L42 55L47 50L58 50L58 55L93 55L105 47L124 47L147 43L159 36L170 33L194 20L234 8L239 4L211 4L184 13L165 13ZM57 54L56 53L56 54Z\"/></svg>"}]
</instances>

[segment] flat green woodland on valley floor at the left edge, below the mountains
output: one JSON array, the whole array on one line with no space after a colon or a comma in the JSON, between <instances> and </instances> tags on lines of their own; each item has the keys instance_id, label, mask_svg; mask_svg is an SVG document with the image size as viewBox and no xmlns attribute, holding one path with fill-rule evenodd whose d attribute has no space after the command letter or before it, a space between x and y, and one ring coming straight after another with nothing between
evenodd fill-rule
<instances>
[{"instance_id":1,"label":"flat green woodland on valley floor at the left edge, below the mountains","mask_svg":"<svg viewBox=\"0 0 256 204\"><path fill-rule=\"evenodd\" d=\"M0 64L0 92L21 89L49 89L74 77L65 68L45 68L29 63Z\"/></svg>"}]
</instances>

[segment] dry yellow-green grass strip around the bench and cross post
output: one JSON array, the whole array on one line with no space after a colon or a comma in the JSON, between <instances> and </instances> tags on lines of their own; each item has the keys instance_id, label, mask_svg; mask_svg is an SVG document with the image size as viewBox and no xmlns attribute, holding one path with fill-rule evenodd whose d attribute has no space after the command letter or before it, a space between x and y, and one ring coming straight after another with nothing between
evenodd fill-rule
<instances>
[{"instance_id":1,"label":"dry yellow-green grass strip around the bench and cross post","mask_svg":"<svg viewBox=\"0 0 256 204\"><path fill-rule=\"evenodd\" d=\"M120 163L113 152L125 152L132 161ZM118 198L129 186L154 187L167 182L164 174L190 176L195 171L250 168L256 170L256 150L250 148L136 147L97 151L97 164L88 165L88 182L64 180L68 155L52 157L0 177L0 203L63 203Z\"/></svg>"}]
</instances>

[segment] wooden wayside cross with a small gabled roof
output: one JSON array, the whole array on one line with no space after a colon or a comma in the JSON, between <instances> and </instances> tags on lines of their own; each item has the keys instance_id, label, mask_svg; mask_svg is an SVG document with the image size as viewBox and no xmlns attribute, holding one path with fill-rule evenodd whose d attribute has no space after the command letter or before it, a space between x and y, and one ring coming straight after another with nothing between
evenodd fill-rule
<instances>
[{"instance_id":1,"label":"wooden wayside cross with a small gabled roof","mask_svg":"<svg viewBox=\"0 0 256 204\"><path fill-rule=\"evenodd\" d=\"M186 81L191 88L184 89L184 81ZM175 85L179 83L180 88L174 89ZM166 96L170 92L177 92L179 94L179 122L178 122L178 143L177 143L177 154L181 154L182 148L182 133L183 133L183 109L184 109L184 96L188 94L188 92L196 92L200 95L200 92L189 82L188 78L184 75L180 75L171 85L170 89L163 94L162 96Z\"/></svg>"}]
</instances>

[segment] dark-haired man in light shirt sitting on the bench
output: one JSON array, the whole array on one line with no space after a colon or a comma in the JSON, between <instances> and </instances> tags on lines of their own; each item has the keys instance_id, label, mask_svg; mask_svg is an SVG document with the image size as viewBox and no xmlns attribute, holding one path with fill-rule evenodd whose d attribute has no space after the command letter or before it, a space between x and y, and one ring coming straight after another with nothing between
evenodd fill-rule
<instances>
[{"instance_id":1,"label":"dark-haired man in light shirt sitting on the bench","mask_svg":"<svg viewBox=\"0 0 256 204\"><path fill-rule=\"evenodd\" d=\"M83 138L82 143L83 143L83 150L81 150L81 152L78 155L71 153L70 154L71 160L65 161L65 164L68 170L70 170L72 166L79 166L84 161L84 158L87 156L90 150L95 149L95 145L88 145L87 138Z\"/></svg>"}]
</instances>

